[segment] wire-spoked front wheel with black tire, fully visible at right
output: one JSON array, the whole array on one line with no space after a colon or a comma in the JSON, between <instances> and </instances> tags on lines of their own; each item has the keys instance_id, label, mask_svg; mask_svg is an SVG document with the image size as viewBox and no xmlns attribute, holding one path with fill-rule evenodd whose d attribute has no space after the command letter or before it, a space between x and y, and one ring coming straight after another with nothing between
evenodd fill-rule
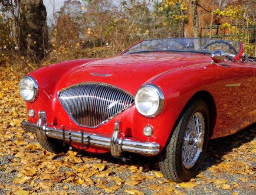
<instances>
[{"instance_id":1,"label":"wire-spoked front wheel with black tire, fully visible at right","mask_svg":"<svg viewBox=\"0 0 256 195\"><path fill-rule=\"evenodd\" d=\"M201 128L193 129L191 121L195 121L195 119L200 123ZM196 127L195 123L194 127ZM196 133L197 130L204 131L204 135ZM176 182L186 182L197 175L207 150L208 137L209 111L207 104L201 99L192 99L177 119L166 146L159 154L159 168L164 176ZM188 153L191 150L184 146L190 146L190 149L193 146L191 150L194 149L194 153ZM185 159L183 156L193 158L192 160Z\"/></svg>"}]
</instances>

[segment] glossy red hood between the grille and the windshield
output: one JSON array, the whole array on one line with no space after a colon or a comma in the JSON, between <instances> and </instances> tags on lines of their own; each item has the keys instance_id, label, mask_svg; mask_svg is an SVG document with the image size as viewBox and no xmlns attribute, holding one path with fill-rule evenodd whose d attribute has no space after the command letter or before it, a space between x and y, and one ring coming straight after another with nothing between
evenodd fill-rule
<instances>
[{"instance_id":1,"label":"glossy red hood between the grille and the windshield","mask_svg":"<svg viewBox=\"0 0 256 195\"><path fill-rule=\"evenodd\" d=\"M207 61L211 62L209 55L170 52L98 59L80 65L72 73L67 72L59 89L82 82L102 82L135 94L142 84L153 81L166 71Z\"/></svg>"}]
</instances>

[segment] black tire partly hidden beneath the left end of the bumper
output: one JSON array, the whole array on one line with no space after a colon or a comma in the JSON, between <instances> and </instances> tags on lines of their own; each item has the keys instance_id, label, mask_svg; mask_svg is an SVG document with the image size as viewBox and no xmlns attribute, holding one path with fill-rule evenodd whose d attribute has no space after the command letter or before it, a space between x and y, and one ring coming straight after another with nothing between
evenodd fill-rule
<instances>
[{"instance_id":1,"label":"black tire partly hidden beneath the left end of the bumper","mask_svg":"<svg viewBox=\"0 0 256 195\"><path fill-rule=\"evenodd\" d=\"M55 154L59 154L62 152L67 152L68 147L63 146L63 143L61 140L57 140L51 137L47 137L46 141L39 141L40 145L43 147L43 149L46 149L47 151Z\"/></svg>"}]
</instances>

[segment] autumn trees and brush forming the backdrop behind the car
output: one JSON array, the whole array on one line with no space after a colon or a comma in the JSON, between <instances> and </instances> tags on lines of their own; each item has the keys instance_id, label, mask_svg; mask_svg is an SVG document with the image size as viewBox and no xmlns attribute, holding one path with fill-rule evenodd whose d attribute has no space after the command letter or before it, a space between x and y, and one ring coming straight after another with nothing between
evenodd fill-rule
<instances>
[{"instance_id":1,"label":"autumn trees and brush forming the backdrop behind the car","mask_svg":"<svg viewBox=\"0 0 256 195\"><path fill-rule=\"evenodd\" d=\"M7 48L0 58L40 60L47 49L51 62L99 58L141 39L183 36L240 40L256 55L253 5L244 0L66 0L54 12L48 35L42 0L0 0L0 48Z\"/></svg>"}]
</instances>

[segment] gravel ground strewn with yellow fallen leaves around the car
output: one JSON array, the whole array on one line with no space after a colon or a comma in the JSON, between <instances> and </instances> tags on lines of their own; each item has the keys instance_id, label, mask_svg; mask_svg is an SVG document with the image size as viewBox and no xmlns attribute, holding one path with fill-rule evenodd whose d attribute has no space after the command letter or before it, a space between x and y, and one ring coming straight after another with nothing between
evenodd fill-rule
<instances>
[{"instance_id":1,"label":"gravel ground strewn with yellow fallen leaves around the car","mask_svg":"<svg viewBox=\"0 0 256 195\"><path fill-rule=\"evenodd\" d=\"M54 155L21 128L25 102L10 68L0 67L0 194L255 195L256 128L211 140L196 178L167 180L153 159L120 159L69 151ZM151 161L151 162L150 162Z\"/></svg>"}]
</instances>

